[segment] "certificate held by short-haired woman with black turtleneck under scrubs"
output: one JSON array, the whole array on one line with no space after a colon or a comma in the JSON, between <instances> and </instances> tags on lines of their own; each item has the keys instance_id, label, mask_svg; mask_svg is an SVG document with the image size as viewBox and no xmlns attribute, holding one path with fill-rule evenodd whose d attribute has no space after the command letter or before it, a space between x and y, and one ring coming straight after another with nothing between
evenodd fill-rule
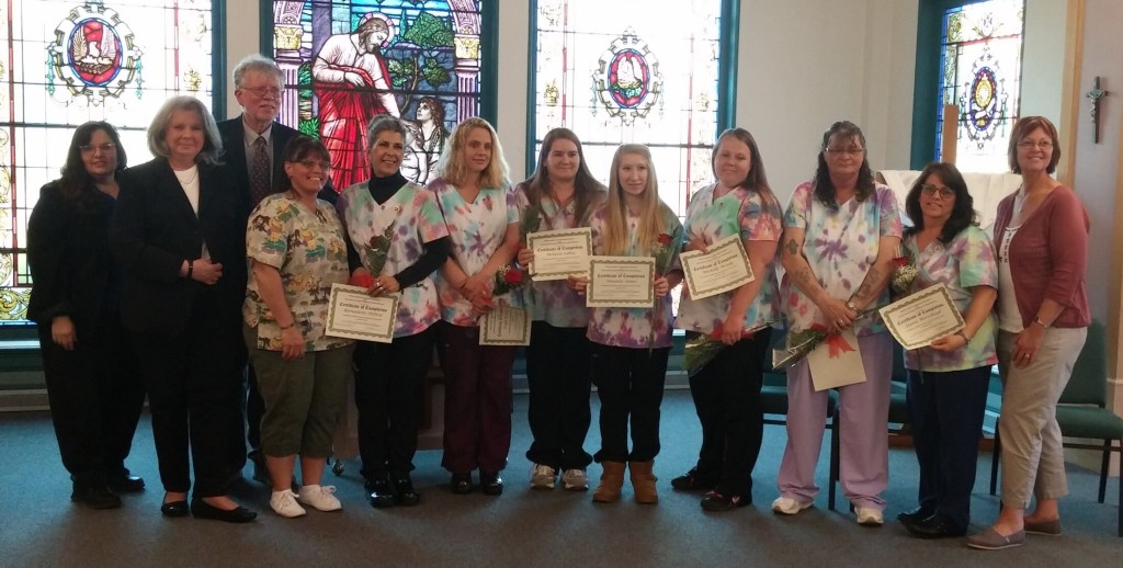
<instances>
[{"instance_id":1,"label":"certificate held by short-haired woman with black turtleneck under scrubs","mask_svg":"<svg viewBox=\"0 0 1123 568\"><path fill-rule=\"evenodd\" d=\"M389 343L394 339L398 294L372 296L363 286L331 285L326 336Z\"/></svg>"}]
</instances>

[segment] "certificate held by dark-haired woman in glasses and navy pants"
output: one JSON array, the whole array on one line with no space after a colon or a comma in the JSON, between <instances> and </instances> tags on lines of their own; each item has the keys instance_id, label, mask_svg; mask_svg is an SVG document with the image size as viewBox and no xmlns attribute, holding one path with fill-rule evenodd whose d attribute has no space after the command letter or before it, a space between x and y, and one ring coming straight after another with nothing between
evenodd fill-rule
<instances>
[{"instance_id":1,"label":"certificate held by dark-haired woman in glasses and navy pants","mask_svg":"<svg viewBox=\"0 0 1123 568\"><path fill-rule=\"evenodd\" d=\"M905 349L926 347L933 339L964 329L964 317L942 283L893 302L878 313Z\"/></svg>"}]
</instances>

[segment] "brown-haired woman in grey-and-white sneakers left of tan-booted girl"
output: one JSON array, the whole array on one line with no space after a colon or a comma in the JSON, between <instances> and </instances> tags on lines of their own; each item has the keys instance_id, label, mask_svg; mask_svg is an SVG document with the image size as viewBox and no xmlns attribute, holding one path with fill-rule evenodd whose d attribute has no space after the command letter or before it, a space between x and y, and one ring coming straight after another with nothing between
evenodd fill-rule
<instances>
[{"instance_id":1,"label":"brown-haired woman in grey-and-white sneakers left of tan-booted girl","mask_svg":"<svg viewBox=\"0 0 1123 568\"><path fill-rule=\"evenodd\" d=\"M588 171L577 135L555 128L542 139L538 168L514 187L514 194L520 216L538 216L538 230L548 231L588 227L590 214L604 202L606 191ZM527 266L533 258L533 250L519 250L519 264ZM527 450L533 462L530 486L553 489L560 473L566 489L585 491L585 468L593 461L584 448L592 421L588 309L584 296L564 280L535 282L527 300L533 318L527 347L527 419L533 437Z\"/></svg>"}]
</instances>

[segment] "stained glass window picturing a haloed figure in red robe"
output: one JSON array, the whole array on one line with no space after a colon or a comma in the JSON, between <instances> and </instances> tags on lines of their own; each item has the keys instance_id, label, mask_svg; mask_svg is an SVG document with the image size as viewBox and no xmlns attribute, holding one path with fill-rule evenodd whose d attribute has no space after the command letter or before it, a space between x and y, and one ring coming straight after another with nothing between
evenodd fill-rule
<instances>
[{"instance_id":1,"label":"stained glass window picturing a haloed figure in red robe","mask_svg":"<svg viewBox=\"0 0 1123 568\"><path fill-rule=\"evenodd\" d=\"M337 191L369 178L367 122L405 119L402 173L424 184L453 127L481 114L480 0L273 2L273 55L289 89L282 123L331 152Z\"/></svg>"}]
</instances>

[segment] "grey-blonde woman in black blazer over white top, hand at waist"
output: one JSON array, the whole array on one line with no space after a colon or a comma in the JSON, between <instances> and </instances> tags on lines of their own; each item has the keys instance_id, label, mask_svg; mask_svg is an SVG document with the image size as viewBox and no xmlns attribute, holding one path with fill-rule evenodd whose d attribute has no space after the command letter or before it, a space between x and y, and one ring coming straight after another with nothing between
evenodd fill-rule
<instances>
[{"instance_id":1,"label":"grey-blonde woman in black blazer over white top, hand at waist","mask_svg":"<svg viewBox=\"0 0 1123 568\"><path fill-rule=\"evenodd\" d=\"M240 440L246 364L248 203L217 166L222 143L207 108L175 97L148 127L152 162L121 174L110 242L125 267L121 317L148 387L165 516L248 522L226 496L231 443ZM191 451L191 460L188 451Z\"/></svg>"}]
</instances>

